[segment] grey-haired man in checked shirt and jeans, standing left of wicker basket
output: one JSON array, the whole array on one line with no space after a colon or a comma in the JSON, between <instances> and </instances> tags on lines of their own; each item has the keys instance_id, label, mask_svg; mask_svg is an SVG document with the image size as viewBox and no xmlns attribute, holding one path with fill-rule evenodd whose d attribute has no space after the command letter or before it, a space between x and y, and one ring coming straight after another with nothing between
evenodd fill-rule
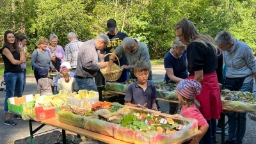
<instances>
[{"instance_id":1,"label":"grey-haired man in checked shirt and jeans, standing left of wicker basket","mask_svg":"<svg viewBox=\"0 0 256 144\"><path fill-rule=\"evenodd\" d=\"M101 33L95 39L88 40L81 45L77 56L75 77L79 90L93 90L97 92L97 86L93 82L100 68L106 68L107 64L98 62L98 50L104 49L110 44L106 34Z\"/></svg>"}]
</instances>

